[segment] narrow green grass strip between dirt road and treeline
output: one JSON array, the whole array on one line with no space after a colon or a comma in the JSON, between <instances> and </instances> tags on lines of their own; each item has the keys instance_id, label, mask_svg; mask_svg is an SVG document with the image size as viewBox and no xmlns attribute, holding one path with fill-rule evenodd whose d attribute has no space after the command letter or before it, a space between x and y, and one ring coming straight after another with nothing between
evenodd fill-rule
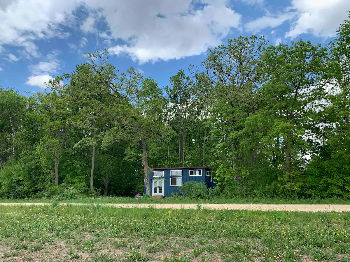
<instances>
[{"instance_id":1,"label":"narrow green grass strip between dirt road and treeline","mask_svg":"<svg viewBox=\"0 0 350 262\"><path fill-rule=\"evenodd\" d=\"M51 198L41 199L3 199L0 198L2 203L54 203L57 202ZM166 197L166 198L141 198L135 199L133 197L85 197L76 199L59 200L60 203L81 203L81 204L92 204L92 203L211 203L211 204L244 204L244 203L255 203L255 204L350 204L350 199L343 198L253 198L253 199L235 199L235 198L214 198L214 199L190 199L186 197Z\"/></svg>"}]
</instances>

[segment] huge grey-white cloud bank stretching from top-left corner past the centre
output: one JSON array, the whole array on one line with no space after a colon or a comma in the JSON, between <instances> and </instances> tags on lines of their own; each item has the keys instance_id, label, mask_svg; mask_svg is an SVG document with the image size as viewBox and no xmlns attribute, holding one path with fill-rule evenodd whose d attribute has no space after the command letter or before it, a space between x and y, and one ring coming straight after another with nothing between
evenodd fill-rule
<instances>
[{"instance_id":1,"label":"huge grey-white cloud bank stretching from top-left corner past the centre","mask_svg":"<svg viewBox=\"0 0 350 262\"><path fill-rule=\"evenodd\" d=\"M195 10L198 2L204 7ZM74 12L81 4L89 10L83 22ZM124 42L111 50L145 63L193 56L221 44L241 15L226 0L7 0L6 9L0 7L0 44L23 46L38 56L35 40L65 36L62 24L96 32L100 18L111 40Z\"/></svg>"}]
</instances>

